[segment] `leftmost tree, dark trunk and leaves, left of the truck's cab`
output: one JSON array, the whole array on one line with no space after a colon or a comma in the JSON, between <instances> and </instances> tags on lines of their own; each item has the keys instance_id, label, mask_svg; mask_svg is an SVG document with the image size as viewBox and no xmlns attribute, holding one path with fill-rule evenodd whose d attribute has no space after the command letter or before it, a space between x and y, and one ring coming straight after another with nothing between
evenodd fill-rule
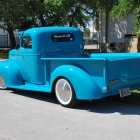
<instances>
[{"instance_id":1,"label":"leftmost tree, dark trunk and leaves, left of the truck's cab","mask_svg":"<svg viewBox=\"0 0 140 140\"><path fill-rule=\"evenodd\" d=\"M8 31L11 48L16 46L13 30L22 23L26 15L23 8L26 1L0 0L0 27Z\"/></svg>"}]
</instances>

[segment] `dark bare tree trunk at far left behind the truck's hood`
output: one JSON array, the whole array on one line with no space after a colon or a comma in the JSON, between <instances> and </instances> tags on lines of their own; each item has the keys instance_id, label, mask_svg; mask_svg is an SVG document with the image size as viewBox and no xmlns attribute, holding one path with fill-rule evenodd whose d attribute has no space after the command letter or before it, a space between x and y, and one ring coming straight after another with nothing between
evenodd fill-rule
<instances>
[{"instance_id":1,"label":"dark bare tree trunk at far left behind the truck's hood","mask_svg":"<svg viewBox=\"0 0 140 140\"><path fill-rule=\"evenodd\" d=\"M7 31L8 31L9 39L10 39L10 48L11 49L15 49L16 41L15 41L15 36L14 36L13 28L8 26Z\"/></svg>"}]
</instances>

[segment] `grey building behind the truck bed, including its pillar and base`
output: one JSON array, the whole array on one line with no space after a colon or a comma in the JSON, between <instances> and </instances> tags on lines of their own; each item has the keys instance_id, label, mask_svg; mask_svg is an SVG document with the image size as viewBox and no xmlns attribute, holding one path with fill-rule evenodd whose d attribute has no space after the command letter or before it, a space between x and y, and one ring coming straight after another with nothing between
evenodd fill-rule
<instances>
[{"instance_id":1,"label":"grey building behind the truck bed, including its pillar and base","mask_svg":"<svg viewBox=\"0 0 140 140\"><path fill-rule=\"evenodd\" d=\"M103 10L99 20L99 40L101 52L122 52L125 50L125 34L134 34L136 16L111 19Z\"/></svg>"}]
</instances>

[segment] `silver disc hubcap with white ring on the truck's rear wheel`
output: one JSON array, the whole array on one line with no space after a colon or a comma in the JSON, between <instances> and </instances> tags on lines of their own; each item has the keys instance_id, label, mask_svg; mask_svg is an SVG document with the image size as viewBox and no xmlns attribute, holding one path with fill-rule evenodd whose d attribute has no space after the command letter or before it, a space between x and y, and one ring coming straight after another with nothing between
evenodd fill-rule
<instances>
[{"instance_id":1,"label":"silver disc hubcap with white ring on the truck's rear wheel","mask_svg":"<svg viewBox=\"0 0 140 140\"><path fill-rule=\"evenodd\" d=\"M71 101L72 98L72 89L68 81L65 79L60 79L56 83L55 92L58 100L66 105Z\"/></svg>"}]
</instances>

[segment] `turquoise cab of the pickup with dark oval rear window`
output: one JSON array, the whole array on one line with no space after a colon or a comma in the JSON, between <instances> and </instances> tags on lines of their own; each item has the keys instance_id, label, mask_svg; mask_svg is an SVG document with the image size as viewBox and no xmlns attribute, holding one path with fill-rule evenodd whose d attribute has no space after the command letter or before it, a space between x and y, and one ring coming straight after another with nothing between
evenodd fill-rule
<instances>
[{"instance_id":1,"label":"turquoise cab of the pickup with dark oval rear window","mask_svg":"<svg viewBox=\"0 0 140 140\"><path fill-rule=\"evenodd\" d=\"M84 55L81 32L76 28L31 28L20 32L20 47L9 53L9 59L18 63L23 80L33 84L46 84L45 58L73 58ZM46 62L48 63L48 62ZM23 70L24 69L24 70Z\"/></svg>"}]
</instances>

